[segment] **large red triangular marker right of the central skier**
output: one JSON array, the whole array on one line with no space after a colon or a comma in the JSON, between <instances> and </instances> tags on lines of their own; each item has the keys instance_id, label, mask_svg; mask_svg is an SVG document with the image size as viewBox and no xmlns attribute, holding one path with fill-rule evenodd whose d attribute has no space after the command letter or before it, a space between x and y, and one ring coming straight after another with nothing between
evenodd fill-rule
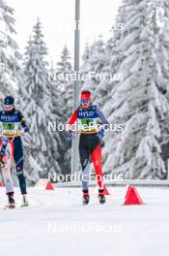
<instances>
[{"instance_id":1,"label":"large red triangular marker right of the central skier","mask_svg":"<svg viewBox=\"0 0 169 256\"><path fill-rule=\"evenodd\" d=\"M134 186L129 186L124 205L143 205L143 201Z\"/></svg>"}]
</instances>

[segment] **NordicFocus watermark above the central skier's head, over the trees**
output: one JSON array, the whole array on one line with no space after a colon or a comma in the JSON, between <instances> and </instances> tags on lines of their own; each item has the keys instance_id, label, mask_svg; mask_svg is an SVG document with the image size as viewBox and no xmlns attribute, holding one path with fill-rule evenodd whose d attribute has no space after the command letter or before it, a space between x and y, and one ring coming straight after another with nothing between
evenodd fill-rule
<instances>
[{"instance_id":1,"label":"NordicFocus watermark above the central skier's head, over the trees","mask_svg":"<svg viewBox=\"0 0 169 256\"><path fill-rule=\"evenodd\" d=\"M89 73L80 73L80 72L73 72L73 73L60 73L57 72L48 72L48 80L53 81L121 81L124 80L123 74L108 74L108 73L97 73L97 72L89 72Z\"/></svg>"}]
</instances>

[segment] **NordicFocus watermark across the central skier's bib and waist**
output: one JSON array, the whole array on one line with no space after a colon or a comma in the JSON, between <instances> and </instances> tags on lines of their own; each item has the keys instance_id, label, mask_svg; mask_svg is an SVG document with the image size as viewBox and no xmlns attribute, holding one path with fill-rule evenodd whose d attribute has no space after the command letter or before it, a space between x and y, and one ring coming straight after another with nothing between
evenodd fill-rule
<instances>
[{"instance_id":1,"label":"NordicFocus watermark across the central skier's bib and waist","mask_svg":"<svg viewBox=\"0 0 169 256\"><path fill-rule=\"evenodd\" d=\"M105 132L123 132L124 124L95 124L93 121L90 121L89 124L82 124L82 123L74 123L74 124L64 124L64 123L57 123L55 121L48 122L48 131L49 132L64 132L64 131L72 131L76 133L80 133L80 131L93 131L99 132L103 129Z\"/></svg>"}]
</instances>

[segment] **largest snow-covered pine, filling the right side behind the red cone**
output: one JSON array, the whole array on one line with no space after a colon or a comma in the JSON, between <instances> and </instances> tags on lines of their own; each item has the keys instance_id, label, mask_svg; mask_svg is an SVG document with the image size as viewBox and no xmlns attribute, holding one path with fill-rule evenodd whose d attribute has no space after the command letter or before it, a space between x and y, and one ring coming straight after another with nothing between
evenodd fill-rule
<instances>
[{"instance_id":1,"label":"largest snow-covered pine, filling the right side behind the red cone","mask_svg":"<svg viewBox=\"0 0 169 256\"><path fill-rule=\"evenodd\" d=\"M126 178L164 178L161 144L169 135L164 125L169 114L169 4L125 3L126 23L117 45L123 54L118 72L124 80L112 88L104 108L110 123L123 123L125 128L122 136L107 136L104 168Z\"/></svg>"}]
</instances>

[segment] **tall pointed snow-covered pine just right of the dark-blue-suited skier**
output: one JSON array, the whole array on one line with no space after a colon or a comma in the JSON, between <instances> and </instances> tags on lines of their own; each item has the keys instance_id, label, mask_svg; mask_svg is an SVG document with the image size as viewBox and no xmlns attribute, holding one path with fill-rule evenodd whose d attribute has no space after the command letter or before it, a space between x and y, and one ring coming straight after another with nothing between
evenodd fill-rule
<instances>
[{"instance_id":1,"label":"tall pointed snow-covered pine just right of the dark-blue-suited skier","mask_svg":"<svg viewBox=\"0 0 169 256\"><path fill-rule=\"evenodd\" d=\"M48 122L55 120L52 106L52 91L48 81L46 62L47 49L43 42L42 26L38 19L33 29L33 35L26 48L24 59L24 109L30 126L30 136L27 136L26 165L30 182L36 182L39 177L47 177L48 172L60 172L55 158L56 142L53 132L48 130Z\"/></svg>"}]
</instances>

